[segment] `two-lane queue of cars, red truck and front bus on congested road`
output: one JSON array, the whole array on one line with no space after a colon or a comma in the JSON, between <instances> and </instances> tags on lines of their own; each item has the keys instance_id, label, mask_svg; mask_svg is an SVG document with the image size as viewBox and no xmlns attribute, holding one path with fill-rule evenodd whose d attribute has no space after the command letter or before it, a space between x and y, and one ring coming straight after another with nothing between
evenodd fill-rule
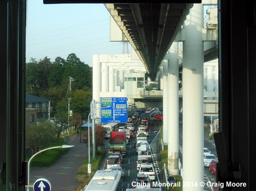
<instances>
[{"instance_id":1,"label":"two-lane queue of cars, red truck and front bus on congested road","mask_svg":"<svg viewBox=\"0 0 256 191\"><path fill-rule=\"evenodd\" d=\"M83 190L123 190L123 177L125 176L122 163L123 157L126 156L126 145L133 137L135 137L135 145L137 160L137 188L151 188L151 181L155 180L155 169L151 163L151 150L147 142L149 122L143 118L138 129L135 127L133 120L137 120L143 113L142 110L133 114L133 119L128 120L126 126L119 124L105 124L107 133L106 139L109 139L109 154L106 160L106 169L98 170L94 174L92 180ZM135 134L137 130L137 133ZM106 188L108 187L108 188Z\"/></svg>"}]
</instances>

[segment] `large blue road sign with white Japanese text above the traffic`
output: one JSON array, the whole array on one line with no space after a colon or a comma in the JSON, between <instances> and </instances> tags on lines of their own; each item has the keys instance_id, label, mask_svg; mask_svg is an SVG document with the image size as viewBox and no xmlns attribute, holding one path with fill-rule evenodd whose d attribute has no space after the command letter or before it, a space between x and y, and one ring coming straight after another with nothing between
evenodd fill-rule
<instances>
[{"instance_id":1,"label":"large blue road sign with white Japanese text above the traffic","mask_svg":"<svg viewBox=\"0 0 256 191\"><path fill-rule=\"evenodd\" d=\"M127 122L127 97L101 97L101 108L102 123Z\"/></svg>"}]
</instances>

